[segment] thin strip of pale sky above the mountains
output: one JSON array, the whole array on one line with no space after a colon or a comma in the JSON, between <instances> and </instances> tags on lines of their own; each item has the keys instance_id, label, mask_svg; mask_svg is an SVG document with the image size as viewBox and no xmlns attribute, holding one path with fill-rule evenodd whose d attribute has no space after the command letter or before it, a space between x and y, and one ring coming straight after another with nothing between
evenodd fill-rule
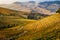
<instances>
[{"instance_id":1,"label":"thin strip of pale sky above the mountains","mask_svg":"<svg viewBox=\"0 0 60 40\"><path fill-rule=\"evenodd\" d=\"M43 1L56 1L56 0L0 0L0 4L11 4L13 2L26 2L26 1L36 1L36 2L43 2Z\"/></svg>"}]
</instances>

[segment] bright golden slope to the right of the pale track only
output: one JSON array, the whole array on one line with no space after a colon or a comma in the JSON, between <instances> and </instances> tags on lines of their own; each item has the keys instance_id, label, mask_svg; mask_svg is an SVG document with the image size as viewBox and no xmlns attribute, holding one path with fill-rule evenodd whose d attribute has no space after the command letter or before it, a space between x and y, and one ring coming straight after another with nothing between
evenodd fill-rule
<instances>
[{"instance_id":1,"label":"bright golden slope to the right of the pale track only","mask_svg":"<svg viewBox=\"0 0 60 40\"><path fill-rule=\"evenodd\" d=\"M23 27L27 31L18 40L56 40L60 39L60 14L39 20Z\"/></svg>"}]
</instances>

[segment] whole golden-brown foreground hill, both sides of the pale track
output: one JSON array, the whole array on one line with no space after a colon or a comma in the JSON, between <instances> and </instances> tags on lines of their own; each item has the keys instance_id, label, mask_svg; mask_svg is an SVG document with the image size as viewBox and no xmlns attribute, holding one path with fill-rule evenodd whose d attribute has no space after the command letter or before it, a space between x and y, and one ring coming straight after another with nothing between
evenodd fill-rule
<instances>
[{"instance_id":1,"label":"whole golden-brown foreground hill, both sides of the pale track","mask_svg":"<svg viewBox=\"0 0 60 40\"><path fill-rule=\"evenodd\" d=\"M14 19L14 20L21 21L21 19ZM28 20L24 19L24 21L27 22ZM32 20L31 23L30 21L28 21L29 24L27 23L23 26L17 25L11 28L5 28L4 30L3 29L0 30L0 39L1 40L55 40L55 39L57 40L59 39L60 14L57 13L37 21ZM21 22L23 22L23 20Z\"/></svg>"}]
</instances>

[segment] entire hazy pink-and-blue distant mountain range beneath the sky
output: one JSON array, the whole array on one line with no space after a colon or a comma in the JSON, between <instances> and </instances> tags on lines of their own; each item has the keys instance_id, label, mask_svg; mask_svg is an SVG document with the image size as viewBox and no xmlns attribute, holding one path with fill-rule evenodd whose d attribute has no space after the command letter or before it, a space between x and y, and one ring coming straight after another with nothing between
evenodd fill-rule
<instances>
[{"instance_id":1,"label":"entire hazy pink-and-blue distant mountain range beneath the sky","mask_svg":"<svg viewBox=\"0 0 60 40\"><path fill-rule=\"evenodd\" d=\"M28 12L28 13L34 10L34 12L37 13L51 15L54 14L56 10L60 8L60 1L48 1L48 2L40 2L40 3L36 3L35 1L14 2L10 5L0 5L0 7Z\"/></svg>"}]
</instances>

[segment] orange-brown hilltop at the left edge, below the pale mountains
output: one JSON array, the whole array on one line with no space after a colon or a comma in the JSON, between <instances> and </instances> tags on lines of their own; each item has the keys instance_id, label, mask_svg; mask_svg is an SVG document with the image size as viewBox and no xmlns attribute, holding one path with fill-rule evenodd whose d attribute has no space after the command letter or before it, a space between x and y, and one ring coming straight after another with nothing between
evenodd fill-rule
<instances>
[{"instance_id":1,"label":"orange-brown hilltop at the left edge, below the pale mountains","mask_svg":"<svg viewBox=\"0 0 60 40\"><path fill-rule=\"evenodd\" d=\"M24 12L0 7L0 13L2 14L23 14Z\"/></svg>"}]
</instances>

